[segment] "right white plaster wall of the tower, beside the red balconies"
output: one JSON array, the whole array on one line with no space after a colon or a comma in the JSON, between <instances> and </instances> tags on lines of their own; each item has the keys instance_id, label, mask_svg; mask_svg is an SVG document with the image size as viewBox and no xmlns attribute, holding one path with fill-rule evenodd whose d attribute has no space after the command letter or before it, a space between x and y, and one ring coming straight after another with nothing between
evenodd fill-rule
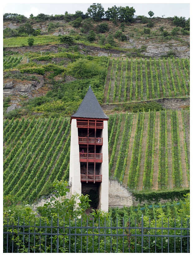
<instances>
[{"instance_id":1,"label":"right white plaster wall of the tower, beside the red balconies","mask_svg":"<svg viewBox=\"0 0 193 256\"><path fill-rule=\"evenodd\" d=\"M102 183L99 187L99 208L105 212L109 210L109 152L108 152L108 121L103 121L103 146L101 174Z\"/></svg>"}]
</instances>

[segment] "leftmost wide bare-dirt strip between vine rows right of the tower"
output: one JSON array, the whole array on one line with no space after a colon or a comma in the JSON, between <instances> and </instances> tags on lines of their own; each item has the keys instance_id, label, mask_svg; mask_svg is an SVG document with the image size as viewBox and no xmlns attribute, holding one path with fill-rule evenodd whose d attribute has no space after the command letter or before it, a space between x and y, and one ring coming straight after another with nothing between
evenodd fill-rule
<instances>
[{"instance_id":1,"label":"leftmost wide bare-dirt strip between vine rows right of the tower","mask_svg":"<svg viewBox=\"0 0 193 256\"><path fill-rule=\"evenodd\" d=\"M127 185L127 180L128 180L129 166L130 166L131 156L132 156L132 152L133 152L133 143L134 143L136 126L137 126L137 114L134 114L131 137L130 137L130 141L129 141L129 150L128 150L128 155L127 155L127 163L126 163L126 168L125 168L125 175L124 175L124 178L123 178L123 183L125 185Z\"/></svg>"}]
</instances>

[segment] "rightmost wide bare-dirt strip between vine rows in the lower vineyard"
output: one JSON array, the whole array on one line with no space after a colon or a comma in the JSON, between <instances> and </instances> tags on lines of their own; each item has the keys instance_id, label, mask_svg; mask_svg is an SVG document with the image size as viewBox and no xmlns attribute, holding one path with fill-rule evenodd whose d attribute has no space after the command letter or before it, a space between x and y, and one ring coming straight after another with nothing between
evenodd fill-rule
<instances>
[{"instance_id":1,"label":"rightmost wide bare-dirt strip between vine rows in the lower vineyard","mask_svg":"<svg viewBox=\"0 0 193 256\"><path fill-rule=\"evenodd\" d=\"M186 158L185 158L185 149L184 149L184 132L182 125L182 116L181 111L178 111L178 123L179 123L179 137L180 137L180 153L181 153L181 167L182 167L182 187L187 188L188 177L187 177L187 168L186 168Z\"/></svg>"}]
</instances>

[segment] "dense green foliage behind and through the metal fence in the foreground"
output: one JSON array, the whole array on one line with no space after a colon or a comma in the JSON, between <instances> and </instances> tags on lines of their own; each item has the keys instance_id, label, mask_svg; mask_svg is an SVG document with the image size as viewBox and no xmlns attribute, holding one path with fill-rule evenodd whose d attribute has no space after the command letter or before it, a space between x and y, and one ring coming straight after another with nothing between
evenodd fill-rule
<instances>
[{"instance_id":1,"label":"dense green foliage behind and through the metal fence in the foreground","mask_svg":"<svg viewBox=\"0 0 193 256\"><path fill-rule=\"evenodd\" d=\"M6 252L6 244L8 242L8 252L12 250L13 252L56 252L57 244L59 251L64 252L141 252L141 238L140 229L133 229L131 227L137 227L142 225L142 214L143 216L143 226L154 228L156 225L156 234L167 235L167 229L158 229L159 227L167 227L169 225L169 234L177 235L181 230L172 230L175 228L186 228L187 222L190 218L190 194L186 194L185 199L180 202L171 202L164 205L145 205L143 208L130 207L123 209L109 209L109 214L102 212L101 210L92 210L89 216L86 215L86 210L90 207L90 199L88 195L74 195L71 199L67 199L66 195L69 191L67 188L67 182L55 180L53 182L54 188L56 190L55 195L50 199L50 202L44 204L44 206L38 207L38 212L40 217L35 216L30 206L16 207L11 205L11 200L7 199L4 202L4 215L3 224L11 224L12 228L10 231L11 235L4 235L4 252ZM59 200L60 198L60 200ZM75 200L80 200L77 206L75 206ZM13 201L13 200L12 200ZM17 217L20 217L19 219ZM175 219L174 219L175 218ZM27 225L27 232L34 231L33 225L36 225L36 234L31 236L29 239L28 235L19 235L19 228L14 227L14 225L22 225L22 229ZM47 235L45 240L45 235L42 233L41 238L38 234L38 226L45 225L49 232L49 225L56 226L50 230L52 233L56 233L58 227L58 232L60 232L59 227L63 227L62 234L52 236L51 241L49 235ZM104 225L107 227L103 229ZM71 236L67 235L68 226L70 229ZM76 229L74 228L76 226ZM91 229L84 229L83 227L91 227ZM108 227L127 227L123 229L108 229ZM81 227L81 228L80 228ZM129 230L128 230L129 228ZM5 229L7 231L7 229ZM9 229L8 229L9 231ZM134 233L133 233L134 232ZM153 229L149 229L149 233L144 229L144 234L153 235L155 234ZM175 232L175 233L174 233ZM78 236L76 234L95 234L92 236ZM74 235L73 235L74 234ZM100 239L98 238L100 234ZM103 238L102 235L105 235ZM114 236L108 236L108 234L128 234L130 239L123 240L116 239ZM134 239L132 234L138 234L138 237ZM185 235L186 231L183 231L182 235ZM13 235L13 236L12 236ZM40 245L41 239L41 245ZM104 241L105 239L105 241ZM144 252L167 252L168 246L170 252L174 251L173 240L177 242L177 238L170 237L170 242L168 243L167 237L159 238L156 237L156 244L154 237L144 237ZM8 240L8 241L7 241ZM182 238L181 243L176 243L176 252L187 252L187 239ZM180 238L181 241L181 238ZM179 242L180 242L179 241ZM105 242L105 243L104 243ZM115 246L115 244L117 246ZM168 244L168 246L167 246ZM30 246L29 246L30 245ZM189 244L190 246L190 244ZM81 249L80 249L81 248ZM35 251L34 251L35 250ZM52 251L50 251L52 250ZM150 251L149 251L150 250Z\"/></svg>"}]
</instances>

